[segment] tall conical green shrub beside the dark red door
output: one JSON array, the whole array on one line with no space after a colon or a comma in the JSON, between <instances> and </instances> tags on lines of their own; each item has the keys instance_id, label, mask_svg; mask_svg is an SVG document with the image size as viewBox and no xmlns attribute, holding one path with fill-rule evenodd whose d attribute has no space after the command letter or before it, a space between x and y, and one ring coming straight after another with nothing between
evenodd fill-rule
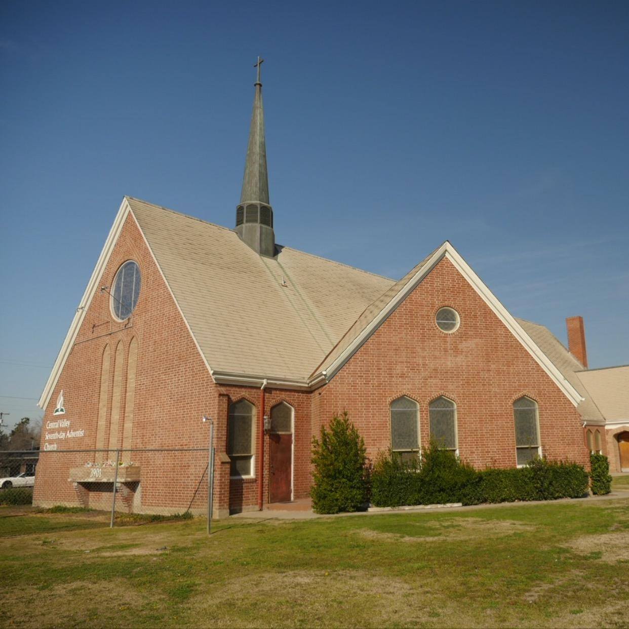
<instances>
[{"instance_id":1,"label":"tall conical green shrub beside the dark red door","mask_svg":"<svg viewBox=\"0 0 629 629\"><path fill-rule=\"evenodd\" d=\"M313 486L310 495L316 513L356 511L367 500L365 443L347 412L334 416L313 438Z\"/></svg>"}]
</instances>

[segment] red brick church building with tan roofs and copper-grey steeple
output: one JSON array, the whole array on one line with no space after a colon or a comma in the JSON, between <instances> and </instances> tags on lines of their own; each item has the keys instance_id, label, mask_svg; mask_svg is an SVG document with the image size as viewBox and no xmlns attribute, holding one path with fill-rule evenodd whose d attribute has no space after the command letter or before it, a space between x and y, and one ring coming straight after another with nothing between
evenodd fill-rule
<instances>
[{"instance_id":1,"label":"red brick church building with tan roofs and copper-grey steeple","mask_svg":"<svg viewBox=\"0 0 629 629\"><path fill-rule=\"evenodd\" d=\"M346 409L371 458L433 437L477 467L601 450L629 468L629 367L587 370L581 318L567 350L449 242L399 281L276 243L259 76L235 214L123 199L40 399L35 504L99 504L72 472L86 454L60 450L123 448L127 508L187 508L207 459L142 450L205 447L203 416L218 516L308 496L313 435Z\"/></svg>"}]
</instances>

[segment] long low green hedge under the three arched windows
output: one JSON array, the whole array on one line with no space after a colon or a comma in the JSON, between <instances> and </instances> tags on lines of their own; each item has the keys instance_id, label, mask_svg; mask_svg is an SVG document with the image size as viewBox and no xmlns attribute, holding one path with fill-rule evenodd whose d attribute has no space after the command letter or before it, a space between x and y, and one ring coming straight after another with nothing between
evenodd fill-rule
<instances>
[{"instance_id":1,"label":"long low green hedge under the three arched windows","mask_svg":"<svg viewBox=\"0 0 629 629\"><path fill-rule=\"evenodd\" d=\"M517 469L477 471L453 452L431 445L409 462L381 453L371 475L371 502L394 507L582 498L588 484L586 470L574 463L535 459Z\"/></svg>"}]
</instances>

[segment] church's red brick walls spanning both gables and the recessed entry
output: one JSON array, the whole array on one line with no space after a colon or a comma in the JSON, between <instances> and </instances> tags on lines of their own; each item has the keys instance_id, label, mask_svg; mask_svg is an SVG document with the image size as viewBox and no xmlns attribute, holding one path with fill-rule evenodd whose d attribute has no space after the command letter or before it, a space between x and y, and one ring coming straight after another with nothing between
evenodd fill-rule
<instances>
[{"instance_id":1,"label":"church's red brick walls spanning both gables and the recessed entry","mask_svg":"<svg viewBox=\"0 0 629 629\"><path fill-rule=\"evenodd\" d=\"M142 272L140 298L131 320L116 322L108 294L97 293L87 310L72 352L45 409L44 426L63 389L66 414L73 430L84 428L82 438L57 442L59 448L94 448L99 409L101 359L106 344L111 350L108 413L104 443L109 442L113 398L114 356L123 343L123 384L131 338L138 341L134 448L199 447L208 445L208 424L215 420L216 481L214 509L255 508L258 503L259 460L255 478L230 479L225 455L228 407L247 398L256 407L256 455L265 440L263 500L269 496L268 437L261 434L260 389L216 386L162 279L135 220L129 216L99 286L113 285L120 265L135 260ZM445 334L435 326L435 313L452 306L461 317L459 330ZM559 388L521 347L484 301L448 260L442 260L413 294L387 319L343 369L325 387L313 393L265 390L265 413L285 401L294 408L294 497L308 495L311 482L311 438L322 423L347 409L365 438L370 457L391 443L389 403L408 395L420 404L421 442L428 442L428 403L439 395L457 403L459 450L472 464L515 465L515 435L511 404L522 395L539 404L543 453L550 459L587 463L581 418ZM120 398L118 443L125 425L125 387ZM42 450L45 441L42 435ZM42 452L37 467L35 503L79 504L85 491L68 481L69 469L84 465L86 454ZM108 458L112 458L109 455ZM142 511L202 511L206 504L204 452L144 453L131 455L140 465L141 482L133 508ZM83 496L83 498L81 498ZM106 506L105 496L94 504Z\"/></svg>"}]
</instances>

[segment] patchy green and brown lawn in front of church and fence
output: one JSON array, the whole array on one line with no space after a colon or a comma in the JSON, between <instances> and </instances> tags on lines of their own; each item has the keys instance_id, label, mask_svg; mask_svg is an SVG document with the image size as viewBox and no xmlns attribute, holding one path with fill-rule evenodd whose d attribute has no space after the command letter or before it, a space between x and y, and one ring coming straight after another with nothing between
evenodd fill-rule
<instances>
[{"instance_id":1,"label":"patchy green and brown lawn in front of church and fence","mask_svg":"<svg viewBox=\"0 0 629 629\"><path fill-rule=\"evenodd\" d=\"M204 528L0 508L0 626L629 626L629 498Z\"/></svg>"}]
</instances>

